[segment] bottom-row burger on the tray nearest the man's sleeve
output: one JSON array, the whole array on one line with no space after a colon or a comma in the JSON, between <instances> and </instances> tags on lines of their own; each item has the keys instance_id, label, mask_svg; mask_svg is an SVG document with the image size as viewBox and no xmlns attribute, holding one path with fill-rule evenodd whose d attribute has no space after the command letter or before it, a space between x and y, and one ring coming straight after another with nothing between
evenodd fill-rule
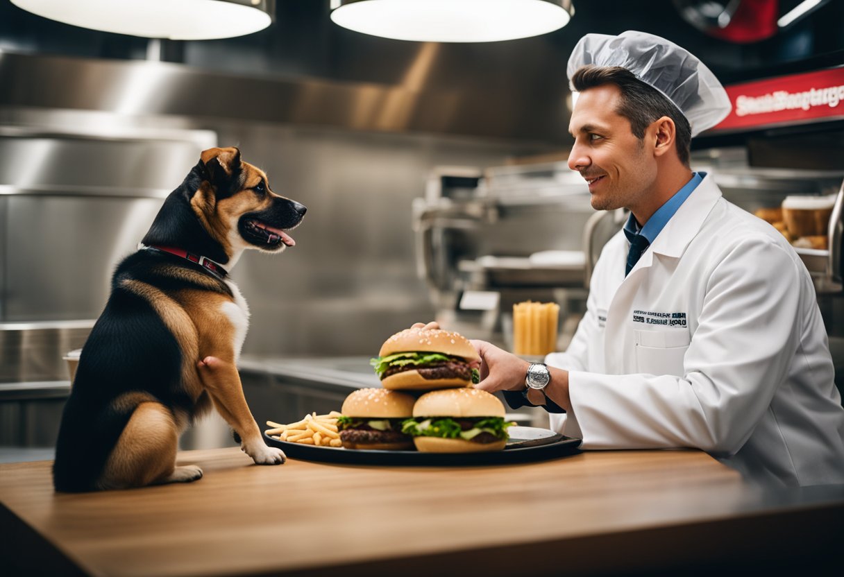
<instances>
[{"instance_id":1,"label":"bottom-row burger on the tray nearest the man's sleeve","mask_svg":"<svg viewBox=\"0 0 844 577\"><path fill-rule=\"evenodd\" d=\"M446 389L420 396L402 431L425 453L475 453L507 444L504 405L479 389Z\"/></svg>"}]
</instances>

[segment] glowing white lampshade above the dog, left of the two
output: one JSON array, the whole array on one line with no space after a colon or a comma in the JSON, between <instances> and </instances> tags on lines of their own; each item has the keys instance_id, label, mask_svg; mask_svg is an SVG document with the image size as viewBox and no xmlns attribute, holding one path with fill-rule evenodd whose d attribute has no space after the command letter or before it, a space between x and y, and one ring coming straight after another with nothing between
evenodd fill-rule
<instances>
[{"instance_id":1,"label":"glowing white lampshade above the dog, left of the two","mask_svg":"<svg viewBox=\"0 0 844 577\"><path fill-rule=\"evenodd\" d=\"M211 40L267 28L274 0L12 0L44 18L146 38Z\"/></svg>"}]
</instances>

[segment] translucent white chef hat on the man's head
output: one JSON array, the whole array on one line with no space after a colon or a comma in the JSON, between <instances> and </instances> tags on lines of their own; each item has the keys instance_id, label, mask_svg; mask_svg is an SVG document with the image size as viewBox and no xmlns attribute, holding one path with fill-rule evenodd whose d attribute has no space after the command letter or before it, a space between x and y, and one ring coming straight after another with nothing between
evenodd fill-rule
<instances>
[{"instance_id":1,"label":"translucent white chef hat on the man's head","mask_svg":"<svg viewBox=\"0 0 844 577\"><path fill-rule=\"evenodd\" d=\"M618 36L587 34L571 52L569 80L586 64L620 66L668 98L691 125L694 137L730 113L727 91L689 51L664 38L627 30Z\"/></svg>"}]
</instances>

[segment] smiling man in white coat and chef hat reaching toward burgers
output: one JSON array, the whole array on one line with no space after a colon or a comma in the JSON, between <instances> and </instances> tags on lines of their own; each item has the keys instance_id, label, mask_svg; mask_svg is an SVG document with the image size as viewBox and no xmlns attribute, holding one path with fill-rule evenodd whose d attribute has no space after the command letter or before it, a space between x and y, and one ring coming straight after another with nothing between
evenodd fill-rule
<instances>
[{"instance_id":1,"label":"smiling man in white coat and chef hat reaching toward burgers","mask_svg":"<svg viewBox=\"0 0 844 577\"><path fill-rule=\"evenodd\" d=\"M844 483L844 408L809 273L689 167L691 136L728 114L721 84L640 32L585 36L568 73L569 166L593 208L630 218L568 350L546 368L475 341L478 388L559 411L552 427L584 449L697 447L759 483Z\"/></svg>"}]
</instances>

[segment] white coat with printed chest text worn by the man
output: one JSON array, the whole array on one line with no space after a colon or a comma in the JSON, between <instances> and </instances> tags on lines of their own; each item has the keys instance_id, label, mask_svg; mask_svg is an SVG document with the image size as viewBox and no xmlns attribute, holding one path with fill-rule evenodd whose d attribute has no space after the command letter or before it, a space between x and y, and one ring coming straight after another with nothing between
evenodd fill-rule
<instances>
[{"instance_id":1,"label":"white coat with printed chest text worn by the man","mask_svg":"<svg viewBox=\"0 0 844 577\"><path fill-rule=\"evenodd\" d=\"M625 278L619 231L565 353L584 449L696 447L766 484L844 483L844 408L809 272L706 175Z\"/></svg>"}]
</instances>

